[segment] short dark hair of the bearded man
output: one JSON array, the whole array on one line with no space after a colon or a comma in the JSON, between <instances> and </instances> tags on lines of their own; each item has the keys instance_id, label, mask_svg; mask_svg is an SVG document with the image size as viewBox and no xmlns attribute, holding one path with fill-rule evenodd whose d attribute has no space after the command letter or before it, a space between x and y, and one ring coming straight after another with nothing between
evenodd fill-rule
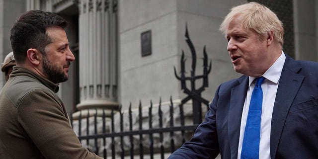
<instances>
[{"instance_id":1,"label":"short dark hair of the bearded man","mask_svg":"<svg viewBox=\"0 0 318 159\"><path fill-rule=\"evenodd\" d=\"M17 63L23 63L30 48L37 49L45 55L45 46L50 44L47 28L65 28L68 21L60 15L41 10L30 10L20 15L11 28L11 48Z\"/></svg>"}]
</instances>

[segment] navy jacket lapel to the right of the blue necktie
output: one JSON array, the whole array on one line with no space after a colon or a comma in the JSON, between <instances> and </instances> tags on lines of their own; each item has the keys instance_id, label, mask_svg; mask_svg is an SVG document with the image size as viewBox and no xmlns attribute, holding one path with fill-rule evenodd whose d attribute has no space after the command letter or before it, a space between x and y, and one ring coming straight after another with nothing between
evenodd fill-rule
<instances>
[{"instance_id":1,"label":"navy jacket lapel to the right of the blue necktie","mask_svg":"<svg viewBox=\"0 0 318 159\"><path fill-rule=\"evenodd\" d=\"M271 159L275 159L289 108L304 80L304 76L297 74L300 69L301 68L295 64L295 60L286 56L286 61L279 80L271 121Z\"/></svg>"}]
</instances>

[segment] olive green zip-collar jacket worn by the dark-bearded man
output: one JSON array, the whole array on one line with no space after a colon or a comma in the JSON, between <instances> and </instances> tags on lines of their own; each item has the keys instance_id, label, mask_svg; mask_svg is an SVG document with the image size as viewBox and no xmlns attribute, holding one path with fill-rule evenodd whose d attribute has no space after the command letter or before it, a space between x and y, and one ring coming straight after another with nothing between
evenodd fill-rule
<instances>
[{"instance_id":1,"label":"olive green zip-collar jacket worn by the dark-bearded man","mask_svg":"<svg viewBox=\"0 0 318 159\"><path fill-rule=\"evenodd\" d=\"M25 68L14 67L0 92L2 156L101 159L80 144L64 104L55 94L58 89L58 84Z\"/></svg>"}]
</instances>

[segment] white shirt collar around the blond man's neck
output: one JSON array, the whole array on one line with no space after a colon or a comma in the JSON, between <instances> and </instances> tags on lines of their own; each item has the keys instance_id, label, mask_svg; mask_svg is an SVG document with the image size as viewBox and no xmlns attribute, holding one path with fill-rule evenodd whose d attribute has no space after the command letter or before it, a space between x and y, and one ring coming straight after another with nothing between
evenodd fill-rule
<instances>
[{"instance_id":1,"label":"white shirt collar around the blond man's neck","mask_svg":"<svg viewBox=\"0 0 318 159\"><path fill-rule=\"evenodd\" d=\"M280 79L280 75L282 73L284 63L285 63L286 56L284 52L282 51L282 54L279 56L279 58L274 62L274 64L262 75L262 77L274 82L278 83ZM249 84L248 87L252 84L255 77L248 77Z\"/></svg>"}]
</instances>

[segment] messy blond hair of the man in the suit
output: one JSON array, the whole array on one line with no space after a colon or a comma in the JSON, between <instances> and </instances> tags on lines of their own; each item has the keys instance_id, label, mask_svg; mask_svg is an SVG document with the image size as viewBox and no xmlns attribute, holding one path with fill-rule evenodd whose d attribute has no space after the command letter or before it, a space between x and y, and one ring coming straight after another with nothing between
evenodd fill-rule
<instances>
[{"instance_id":1,"label":"messy blond hair of the man in the suit","mask_svg":"<svg viewBox=\"0 0 318 159\"><path fill-rule=\"evenodd\" d=\"M230 22L235 18L239 18L241 28L245 30L249 28L254 29L261 38L266 37L268 32L272 30L274 32L274 40L283 46L283 23L278 19L277 15L266 6L257 2L249 2L233 7L220 25L220 31L223 34L227 34Z\"/></svg>"}]
</instances>

